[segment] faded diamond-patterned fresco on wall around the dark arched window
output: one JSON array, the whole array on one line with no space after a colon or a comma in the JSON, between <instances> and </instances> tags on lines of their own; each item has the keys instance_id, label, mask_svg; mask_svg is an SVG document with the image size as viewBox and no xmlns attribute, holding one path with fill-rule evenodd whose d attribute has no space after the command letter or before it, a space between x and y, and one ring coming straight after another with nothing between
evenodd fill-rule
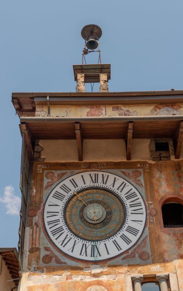
<instances>
[{"instance_id":1,"label":"faded diamond-patterned fresco on wall around the dark arched window","mask_svg":"<svg viewBox=\"0 0 183 291\"><path fill-rule=\"evenodd\" d=\"M157 202L160 203L159 212L161 212L162 201L168 198L183 197L183 161L157 162L153 165L152 170L155 194ZM161 219L160 217L160 221ZM160 232L163 260L164 262L179 260L177 261L177 272L181 279L183 278L181 260L183 259L183 228L164 228L160 224ZM182 280L181 284L183 288Z\"/></svg>"}]
</instances>

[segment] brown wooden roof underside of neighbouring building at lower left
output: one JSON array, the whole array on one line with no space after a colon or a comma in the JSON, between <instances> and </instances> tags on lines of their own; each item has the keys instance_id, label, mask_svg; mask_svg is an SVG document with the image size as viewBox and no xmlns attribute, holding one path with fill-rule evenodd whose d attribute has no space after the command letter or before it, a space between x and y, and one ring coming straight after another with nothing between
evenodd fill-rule
<instances>
[{"instance_id":1,"label":"brown wooden roof underside of neighbouring building at lower left","mask_svg":"<svg viewBox=\"0 0 183 291\"><path fill-rule=\"evenodd\" d=\"M19 283L19 266L18 266L18 252L16 248L0 248L0 255L2 256L15 286L18 287Z\"/></svg>"}]
</instances>

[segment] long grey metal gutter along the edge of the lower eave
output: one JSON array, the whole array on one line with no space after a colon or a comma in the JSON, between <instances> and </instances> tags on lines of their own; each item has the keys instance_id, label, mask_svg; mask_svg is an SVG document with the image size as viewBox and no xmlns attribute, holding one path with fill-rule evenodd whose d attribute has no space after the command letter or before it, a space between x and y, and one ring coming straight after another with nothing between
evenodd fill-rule
<instances>
[{"instance_id":1,"label":"long grey metal gutter along the edge of the lower eave","mask_svg":"<svg viewBox=\"0 0 183 291\"><path fill-rule=\"evenodd\" d=\"M127 121L181 121L183 115L156 116L83 116L83 117L20 117L20 122L127 122Z\"/></svg>"}]
</instances>

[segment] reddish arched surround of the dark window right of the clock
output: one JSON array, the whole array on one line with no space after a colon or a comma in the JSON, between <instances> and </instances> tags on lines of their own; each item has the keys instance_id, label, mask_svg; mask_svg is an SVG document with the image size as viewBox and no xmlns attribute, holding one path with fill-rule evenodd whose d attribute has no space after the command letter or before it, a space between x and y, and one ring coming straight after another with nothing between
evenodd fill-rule
<instances>
[{"instance_id":1,"label":"reddish arched surround of the dark window right of the clock","mask_svg":"<svg viewBox=\"0 0 183 291\"><path fill-rule=\"evenodd\" d=\"M168 228L168 227L164 227L163 224L163 215L162 215L162 206L168 202L178 202L181 203L183 205L183 197L180 194L166 194L165 196L163 196L160 200L159 200L159 213L160 213L160 227L164 230L172 230L172 231L176 231L177 229L183 229L183 227L175 227L175 228Z\"/></svg>"}]
</instances>

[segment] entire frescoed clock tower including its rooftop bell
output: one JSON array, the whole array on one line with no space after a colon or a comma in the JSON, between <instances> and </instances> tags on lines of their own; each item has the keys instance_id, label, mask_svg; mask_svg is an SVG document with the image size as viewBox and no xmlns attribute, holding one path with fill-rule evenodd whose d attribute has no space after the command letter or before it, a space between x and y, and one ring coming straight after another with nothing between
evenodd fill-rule
<instances>
[{"instance_id":1,"label":"entire frescoed clock tower including its rooftop bell","mask_svg":"<svg viewBox=\"0 0 183 291\"><path fill-rule=\"evenodd\" d=\"M183 290L183 91L109 92L102 30L81 36L76 92L12 93L18 290ZM84 64L92 52L98 64Z\"/></svg>"}]
</instances>

